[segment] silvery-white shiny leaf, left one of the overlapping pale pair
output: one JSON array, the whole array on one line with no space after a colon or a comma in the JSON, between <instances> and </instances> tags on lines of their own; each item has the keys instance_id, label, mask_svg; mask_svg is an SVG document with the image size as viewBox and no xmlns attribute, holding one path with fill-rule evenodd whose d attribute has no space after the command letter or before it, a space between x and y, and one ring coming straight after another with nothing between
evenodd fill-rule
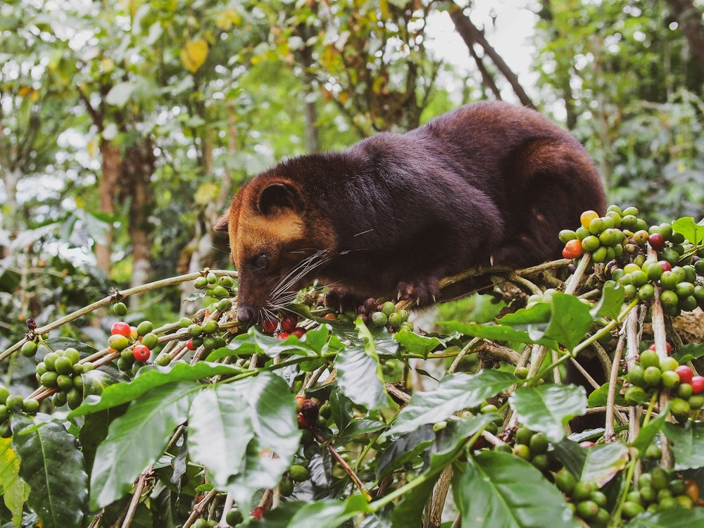
<instances>
[{"instance_id":1,"label":"silvery-white shiny leaf, left one of the overlapping pale pair","mask_svg":"<svg viewBox=\"0 0 704 528\"><path fill-rule=\"evenodd\" d=\"M206 467L210 482L223 489L244 470L254 436L249 405L232 384L201 390L188 413L191 458Z\"/></svg>"}]
</instances>

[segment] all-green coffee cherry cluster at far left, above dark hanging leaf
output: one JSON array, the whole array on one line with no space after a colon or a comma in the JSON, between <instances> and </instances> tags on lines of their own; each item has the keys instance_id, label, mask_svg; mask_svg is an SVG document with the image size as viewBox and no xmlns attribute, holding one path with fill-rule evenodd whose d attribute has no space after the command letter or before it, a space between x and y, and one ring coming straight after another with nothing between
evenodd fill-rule
<instances>
[{"instance_id":1,"label":"all-green coffee cherry cluster at far left, above dark hanging leaf","mask_svg":"<svg viewBox=\"0 0 704 528\"><path fill-rule=\"evenodd\" d=\"M61 407L68 403L75 409L83 401L84 372L93 370L92 363L78 363L80 353L72 347L65 350L47 352L44 359L37 363L37 382L45 389L56 389L51 396L51 403Z\"/></svg>"}]
</instances>

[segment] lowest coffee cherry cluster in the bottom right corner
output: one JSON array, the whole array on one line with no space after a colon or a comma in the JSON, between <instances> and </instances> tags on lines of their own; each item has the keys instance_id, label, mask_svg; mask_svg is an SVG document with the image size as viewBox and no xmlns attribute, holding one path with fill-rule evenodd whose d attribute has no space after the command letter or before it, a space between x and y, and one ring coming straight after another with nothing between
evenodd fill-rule
<instances>
[{"instance_id":1,"label":"lowest coffee cherry cluster in the bottom right corner","mask_svg":"<svg viewBox=\"0 0 704 528\"><path fill-rule=\"evenodd\" d=\"M637 491L631 491L624 503L623 515L635 517L647 510L655 513L674 506L692 508L700 504L699 486L692 480L682 480L672 470L653 467L638 479Z\"/></svg>"}]
</instances>

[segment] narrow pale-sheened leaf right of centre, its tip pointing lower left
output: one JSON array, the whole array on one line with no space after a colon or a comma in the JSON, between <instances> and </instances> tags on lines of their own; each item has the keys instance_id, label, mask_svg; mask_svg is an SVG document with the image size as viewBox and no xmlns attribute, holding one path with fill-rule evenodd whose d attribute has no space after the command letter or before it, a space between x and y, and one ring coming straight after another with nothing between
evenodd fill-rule
<instances>
[{"instance_id":1,"label":"narrow pale-sheened leaf right of centre, its tip pointing lower left","mask_svg":"<svg viewBox=\"0 0 704 528\"><path fill-rule=\"evenodd\" d=\"M475 375L456 372L440 380L434 391L415 392L408 405L398 413L391 434L415 430L423 424L446 420L453 413L479 406L482 401L520 380L510 372L481 370Z\"/></svg>"}]
</instances>

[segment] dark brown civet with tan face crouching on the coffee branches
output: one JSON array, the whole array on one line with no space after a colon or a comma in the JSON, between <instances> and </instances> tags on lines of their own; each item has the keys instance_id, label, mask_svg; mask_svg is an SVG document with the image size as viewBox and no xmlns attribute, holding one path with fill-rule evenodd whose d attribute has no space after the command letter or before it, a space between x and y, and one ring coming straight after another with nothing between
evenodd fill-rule
<instances>
[{"instance_id":1,"label":"dark brown civet with tan face crouching on the coffee branches","mask_svg":"<svg viewBox=\"0 0 704 528\"><path fill-rule=\"evenodd\" d=\"M587 209L603 213L605 196L579 142L535 111L483 102L283 161L242 187L216 230L230 231L238 318L251 322L315 251L325 256L287 290L318 278L355 298L429 304L442 277L474 265L559 257L559 230Z\"/></svg>"}]
</instances>

